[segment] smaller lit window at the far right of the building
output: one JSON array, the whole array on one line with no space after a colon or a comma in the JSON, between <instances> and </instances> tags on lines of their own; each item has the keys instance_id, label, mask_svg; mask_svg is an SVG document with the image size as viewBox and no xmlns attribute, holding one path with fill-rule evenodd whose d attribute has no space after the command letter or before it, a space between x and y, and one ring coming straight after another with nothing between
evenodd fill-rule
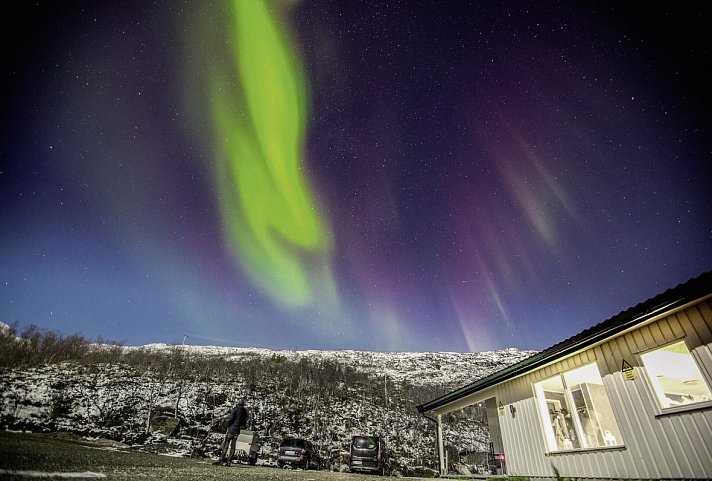
<instances>
[{"instance_id":1,"label":"smaller lit window at the far right of the building","mask_svg":"<svg viewBox=\"0 0 712 481\"><path fill-rule=\"evenodd\" d=\"M640 357L663 408L712 400L710 388L683 341Z\"/></svg>"}]
</instances>

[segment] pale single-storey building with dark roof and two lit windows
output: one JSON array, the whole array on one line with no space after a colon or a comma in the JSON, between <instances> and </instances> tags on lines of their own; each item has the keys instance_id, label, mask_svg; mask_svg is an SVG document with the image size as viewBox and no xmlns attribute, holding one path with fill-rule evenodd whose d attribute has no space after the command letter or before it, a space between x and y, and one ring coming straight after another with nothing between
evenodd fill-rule
<instances>
[{"instance_id":1,"label":"pale single-storey building with dark roof and two lit windows","mask_svg":"<svg viewBox=\"0 0 712 481\"><path fill-rule=\"evenodd\" d=\"M712 478L712 271L418 411L487 410L502 474L529 479Z\"/></svg>"}]
</instances>

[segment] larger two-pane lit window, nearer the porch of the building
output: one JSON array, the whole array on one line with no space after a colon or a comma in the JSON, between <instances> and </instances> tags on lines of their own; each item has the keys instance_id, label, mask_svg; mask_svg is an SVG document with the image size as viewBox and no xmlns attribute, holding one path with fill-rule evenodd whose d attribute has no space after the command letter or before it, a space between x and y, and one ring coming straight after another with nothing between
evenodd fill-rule
<instances>
[{"instance_id":1,"label":"larger two-pane lit window, nearer the porch of the building","mask_svg":"<svg viewBox=\"0 0 712 481\"><path fill-rule=\"evenodd\" d=\"M550 451L623 444L595 364L534 385Z\"/></svg>"}]
</instances>

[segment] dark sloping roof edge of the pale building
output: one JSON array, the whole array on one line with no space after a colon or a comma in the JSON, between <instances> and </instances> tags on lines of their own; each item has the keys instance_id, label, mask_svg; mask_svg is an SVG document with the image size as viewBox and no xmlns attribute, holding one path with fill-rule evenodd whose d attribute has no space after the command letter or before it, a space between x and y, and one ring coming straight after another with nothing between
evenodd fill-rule
<instances>
[{"instance_id":1,"label":"dark sloping roof edge of the pale building","mask_svg":"<svg viewBox=\"0 0 712 481\"><path fill-rule=\"evenodd\" d=\"M418 412L426 413L432 411L462 399L465 396L494 386L495 384L533 371L554 360L563 358L642 324L660 313L684 306L710 294L712 294L712 271L707 271L694 279L690 279L677 287L668 289L662 294L648 299L645 302L641 302L637 306L631 307L610 319L581 331L579 334L534 354L523 361L512 364L482 379L478 379L473 383L456 389L437 399L421 404L418 406Z\"/></svg>"}]
</instances>

